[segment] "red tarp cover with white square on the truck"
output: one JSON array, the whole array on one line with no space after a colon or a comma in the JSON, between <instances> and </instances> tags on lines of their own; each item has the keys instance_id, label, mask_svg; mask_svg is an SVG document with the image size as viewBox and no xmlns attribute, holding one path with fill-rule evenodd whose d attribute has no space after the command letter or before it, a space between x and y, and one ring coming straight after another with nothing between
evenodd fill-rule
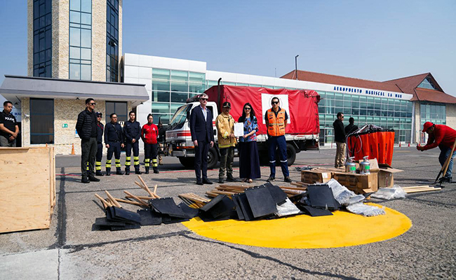
<instances>
[{"instance_id":1,"label":"red tarp cover with white square on the truck","mask_svg":"<svg viewBox=\"0 0 456 280\"><path fill-rule=\"evenodd\" d=\"M265 87L220 85L220 100L217 100L217 86L215 85L205 93L208 94L210 102L218 104L219 112L221 112L223 102L230 102L232 105L230 113L236 121L242 116L243 105L247 102L250 103L258 119L259 134L266 134L266 125L262 119L264 119L265 110L271 108L271 96L280 97L280 95L286 94L288 95L287 113L290 119L286 127L286 134L320 133L318 120L320 95L314 90L272 90ZM281 102L281 108L283 108L282 106Z\"/></svg>"}]
</instances>

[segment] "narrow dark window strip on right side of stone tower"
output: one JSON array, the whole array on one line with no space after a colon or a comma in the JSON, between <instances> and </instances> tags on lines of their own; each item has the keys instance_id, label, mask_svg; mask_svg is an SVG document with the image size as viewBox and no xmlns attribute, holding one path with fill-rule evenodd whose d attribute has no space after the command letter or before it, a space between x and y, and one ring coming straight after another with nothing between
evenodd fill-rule
<instances>
[{"instance_id":1,"label":"narrow dark window strip on right side of stone tower","mask_svg":"<svg viewBox=\"0 0 456 280\"><path fill-rule=\"evenodd\" d=\"M107 0L106 81L119 82L119 0Z\"/></svg>"}]
</instances>

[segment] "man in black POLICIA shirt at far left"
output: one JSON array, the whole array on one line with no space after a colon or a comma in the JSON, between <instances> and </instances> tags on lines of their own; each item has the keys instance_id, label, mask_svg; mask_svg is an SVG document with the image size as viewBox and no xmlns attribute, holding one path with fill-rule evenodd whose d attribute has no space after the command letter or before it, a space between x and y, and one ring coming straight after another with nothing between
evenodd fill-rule
<instances>
[{"instance_id":1,"label":"man in black POLICIA shirt at far left","mask_svg":"<svg viewBox=\"0 0 456 280\"><path fill-rule=\"evenodd\" d=\"M15 147L19 134L19 125L11 113L13 103L4 102L4 111L0 113L0 147Z\"/></svg>"}]
</instances>

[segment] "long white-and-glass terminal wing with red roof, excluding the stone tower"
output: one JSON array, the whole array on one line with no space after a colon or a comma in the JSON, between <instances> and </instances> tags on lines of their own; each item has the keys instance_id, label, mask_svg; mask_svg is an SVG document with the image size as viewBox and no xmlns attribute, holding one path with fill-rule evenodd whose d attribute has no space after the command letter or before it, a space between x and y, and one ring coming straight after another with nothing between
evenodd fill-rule
<instances>
[{"instance_id":1,"label":"long white-and-glass terminal wing with red roof, excluding the stone tower","mask_svg":"<svg viewBox=\"0 0 456 280\"><path fill-rule=\"evenodd\" d=\"M210 71L206 62L128 53L123 56L123 81L143 83L149 94L149 101L138 106L138 116L144 120L152 111L154 120L167 123L188 97L217 85L219 78L223 85L316 90L321 94L321 145L334 141L337 112L344 113L346 122L353 117L358 126L367 123L394 129L396 144L424 141L420 130L427 121L456 126L456 98L445 94L431 73L384 82L300 70L297 79L295 71L273 78Z\"/></svg>"}]
</instances>

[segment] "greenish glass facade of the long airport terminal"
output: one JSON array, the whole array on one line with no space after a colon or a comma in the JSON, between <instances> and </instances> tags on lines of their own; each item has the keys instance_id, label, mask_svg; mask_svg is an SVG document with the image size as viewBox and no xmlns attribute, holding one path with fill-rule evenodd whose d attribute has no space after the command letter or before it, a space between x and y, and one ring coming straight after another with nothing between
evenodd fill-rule
<instances>
[{"instance_id":1,"label":"greenish glass facade of the long airport terminal","mask_svg":"<svg viewBox=\"0 0 456 280\"><path fill-rule=\"evenodd\" d=\"M154 121L158 122L161 118L163 124L167 124L170 116L185 104L188 97L207 90L213 85L217 85L216 80L205 80L203 87L197 87L196 90L188 87L188 92L170 92L170 88L177 90L187 90L187 85L182 85L181 80L171 80L170 70L152 69L152 113ZM156 75L154 76L154 73ZM160 76L161 73L164 76ZM189 75L196 73L188 72ZM199 73L203 80L204 73ZM181 73L181 75L184 75ZM173 83L177 83L174 84ZM258 85L252 83L234 83L221 81L222 85L239 85L250 87L267 87L267 88L283 88L273 85ZM166 91L163 91L165 90ZM288 87L290 90L298 88ZM366 97L359 94L325 92L317 90L321 96L321 101L318 103L318 115L320 117L320 142L332 143L334 141L333 122L336 119L337 112L342 112L345 115L345 125L348 125L349 118L354 118L355 124L359 127L367 124L377 125L386 129L394 129L396 132L395 142L410 141L412 135L412 118L413 118L413 103L407 100L393 99L387 97ZM444 106L443 106L444 107ZM434 109L433 109L434 110ZM441 109L439 109L441 110ZM169 112L169 114L168 114ZM432 115L434 116L434 115ZM444 118L445 115L443 115Z\"/></svg>"}]
</instances>

